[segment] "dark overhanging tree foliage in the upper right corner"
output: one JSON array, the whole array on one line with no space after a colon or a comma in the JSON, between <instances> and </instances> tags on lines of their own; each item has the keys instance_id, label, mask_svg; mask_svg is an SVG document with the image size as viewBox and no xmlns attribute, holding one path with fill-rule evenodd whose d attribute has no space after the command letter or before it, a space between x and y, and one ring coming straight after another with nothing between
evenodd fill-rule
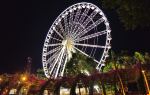
<instances>
[{"instance_id":1,"label":"dark overhanging tree foliage in the upper right corner","mask_svg":"<svg viewBox=\"0 0 150 95\"><path fill-rule=\"evenodd\" d=\"M150 0L103 0L106 9L115 10L127 30L150 26Z\"/></svg>"}]
</instances>

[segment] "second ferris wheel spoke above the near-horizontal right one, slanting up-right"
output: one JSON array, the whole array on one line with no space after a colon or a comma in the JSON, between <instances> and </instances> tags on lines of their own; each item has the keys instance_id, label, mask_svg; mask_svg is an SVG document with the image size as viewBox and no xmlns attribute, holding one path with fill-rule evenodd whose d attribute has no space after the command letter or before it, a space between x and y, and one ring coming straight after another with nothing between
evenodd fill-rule
<instances>
[{"instance_id":1,"label":"second ferris wheel spoke above the near-horizontal right one, slanting up-right","mask_svg":"<svg viewBox=\"0 0 150 95\"><path fill-rule=\"evenodd\" d=\"M83 35L85 35L86 33L88 33L90 30L92 30L93 28L95 28L96 26L98 26L99 24L101 24L104 21L103 18L98 19L95 23L91 24L90 26L88 26L86 29L84 29L81 33L79 33L77 36L81 37ZM76 36L76 37L77 37Z\"/></svg>"}]
</instances>

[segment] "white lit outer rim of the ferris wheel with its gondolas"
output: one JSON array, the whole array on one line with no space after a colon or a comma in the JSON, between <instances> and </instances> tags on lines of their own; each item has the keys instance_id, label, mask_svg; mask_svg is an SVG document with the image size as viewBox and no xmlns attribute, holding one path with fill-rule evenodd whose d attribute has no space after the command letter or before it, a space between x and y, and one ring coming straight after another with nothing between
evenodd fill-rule
<instances>
[{"instance_id":1,"label":"white lit outer rim of the ferris wheel with its gondolas","mask_svg":"<svg viewBox=\"0 0 150 95\"><path fill-rule=\"evenodd\" d=\"M92 6L94 6L96 9L98 9L98 11L100 11L100 12L102 12L102 15L103 15L103 17L105 17L104 18L104 21L105 21L105 23L106 24L108 24L108 27L106 27L107 28L107 39L106 39L106 42L105 42L105 47L103 47L104 48L104 52L103 52L103 54L102 54L102 56L101 56L101 58L100 58L100 60L99 60L99 62L98 61L96 61L96 62L98 62L98 65L97 65L97 67L96 67L96 69L100 69L101 67L100 67L100 64L102 64L102 63L104 63L104 61L105 61L105 59L106 59L106 57L108 57L108 50L111 48L110 47L110 40L111 40L111 36L110 36L110 32L111 32L111 29L110 29L110 26L109 26L109 22L108 22L108 20L107 20L107 18L106 18L106 16L105 16L105 14L103 13L103 11L100 9L100 8L98 8L96 5L94 5L94 4L92 4L92 3L88 3L88 2L81 2L81 3L76 3L76 4L73 4L73 5L71 5L71 6L69 6L67 9L65 9L63 12L61 12L61 14L55 19L55 21L53 22L53 24L51 25L51 27L50 27L50 29L49 29L49 31L48 31L48 34L47 34L47 36L46 36L46 39L45 39L45 42L44 42L44 46L43 46L43 53L42 53L42 62L43 62L43 69L44 69L44 72L45 72L45 75L47 76L47 77L50 77L50 75L49 75L49 72L48 72L48 70L45 68L45 64L47 64L46 63L46 60L45 60L45 58L46 58L46 55L45 55L45 47L47 47L47 44L45 44L45 43L47 43L47 41L50 39L50 37L51 37L51 35L53 34L53 29L55 29L55 25L57 25L58 24L58 22L57 21L59 21L60 20L60 17L63 17L64 16L64 14L66 14L66 11L68 11L71 7L73 8L74 6L77 6L77 5L84 5L84 4L87 4L87 5L92 5ZM86 7L86 6L85 6ZM70 11L70 10L69 10ZM62 18L61 18L62 19ZM59 35L59 33L58 33L58 35ZM61 37L61 36L60 36ZM62 38L62 40L64 39L63 37L61 37ZM62 45L61 43L60 43L60 45ZM78 44L79 45L79 44ZM95 60L94 60L95 61Z\"/></svg>"}]
</instances>

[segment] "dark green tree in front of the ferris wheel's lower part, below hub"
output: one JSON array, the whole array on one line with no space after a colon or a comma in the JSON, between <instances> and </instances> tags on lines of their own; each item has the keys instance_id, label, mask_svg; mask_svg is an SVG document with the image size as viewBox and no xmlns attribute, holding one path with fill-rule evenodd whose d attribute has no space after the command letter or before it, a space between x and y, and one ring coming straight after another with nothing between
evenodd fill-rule
<instances>
[{"instance_id":1,"label":"dark green tree in front of the ferris wheel's lower part, below hub","mask_svg":"<svg viewBox=\"0 0 150 95\"><path fill-rule=\"evenodd\" d=\"M90 74L95 70L96 63L92 58L77 52L73 53L72 58L65 68L65 76L77 76L78 74Z\"/></svg>"}]
</instances>

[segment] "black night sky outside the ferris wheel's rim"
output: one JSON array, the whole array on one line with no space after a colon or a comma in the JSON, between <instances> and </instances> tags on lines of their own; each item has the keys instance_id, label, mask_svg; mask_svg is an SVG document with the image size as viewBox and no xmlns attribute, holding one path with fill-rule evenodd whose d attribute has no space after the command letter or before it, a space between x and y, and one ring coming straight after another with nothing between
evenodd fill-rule
<instances>
[{"instance_id":1,"label":"black night sky outside the ferris wheel's rim","mask_svg":"<svg viewBox=\"0 0 150 95\"><path fill-rule=\"evenodd\" d=\"M42 68L48 29L64 9L81 1L96 4L106 14L112 28L113 50L150 51L149 31L123 31L117 14L103 9L100 0L6 0L0 11L0 73L23 71L28 56L33 59L32 69Z\"/></svg>"}]
</instances>

